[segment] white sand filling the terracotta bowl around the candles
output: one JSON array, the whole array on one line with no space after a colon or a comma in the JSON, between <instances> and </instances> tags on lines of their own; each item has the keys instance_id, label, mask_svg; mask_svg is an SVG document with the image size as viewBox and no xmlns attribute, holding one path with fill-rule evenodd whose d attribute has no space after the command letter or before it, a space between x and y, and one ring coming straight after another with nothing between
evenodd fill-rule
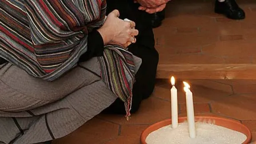
<instances>
[{"instance_id":1,"label":"white sand filling the terracotta bowl around the candles","mask_svg":"<svg viewBox=\"0 0 256 144\"><path fill-rule=\"evenodd\" d=\"M171 125L160 128L148 135L147 144L242 144L247 139L236 132L215 124L196 122L196 138L189 138L188 123L180 123L178 128Z\"/></svg>"}]
</instances>

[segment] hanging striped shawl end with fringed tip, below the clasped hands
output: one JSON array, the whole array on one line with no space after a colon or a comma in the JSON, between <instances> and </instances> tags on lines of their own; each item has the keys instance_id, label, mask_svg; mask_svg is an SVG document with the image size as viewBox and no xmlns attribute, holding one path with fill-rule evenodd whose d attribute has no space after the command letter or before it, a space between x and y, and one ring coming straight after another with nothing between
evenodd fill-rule
<instances>
[{"instance_id":1,"label":"hanging striped shawl end with fringed tip, below the clasped hands","mask_svg":"<svg viewBox=\"0 0 256 144\"><path fill-rule=\"evenodd\" d=\"M135 83L135 66L132 53L118 45L107 45L104 56L98 57L101 77L110 90L122 101L126 118L130 119L132 86Z\"/></svg>"}]
</instances>

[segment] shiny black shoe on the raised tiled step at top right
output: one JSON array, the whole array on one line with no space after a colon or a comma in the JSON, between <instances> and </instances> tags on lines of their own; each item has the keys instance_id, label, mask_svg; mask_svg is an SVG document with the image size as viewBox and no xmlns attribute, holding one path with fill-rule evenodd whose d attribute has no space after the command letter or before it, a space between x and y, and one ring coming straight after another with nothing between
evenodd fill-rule
<instances>
[{"instance_id":1,"label":"shiny black shoe on the raised tiled step at top right","mask_svg":"<svg viewBox=\"0 0 256 144\"><path fill-rule=\"evenodd\" d=\"M236 4L236 0L225 0L224 2L216 0L215 12L233 20L242 20L245 18L244 10Z\"/></svg>"}]
</instances>

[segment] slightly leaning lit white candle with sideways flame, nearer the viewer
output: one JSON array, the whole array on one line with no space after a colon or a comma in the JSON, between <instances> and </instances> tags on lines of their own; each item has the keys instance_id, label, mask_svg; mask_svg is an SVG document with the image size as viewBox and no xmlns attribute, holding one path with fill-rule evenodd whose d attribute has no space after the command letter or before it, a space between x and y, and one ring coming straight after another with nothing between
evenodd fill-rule
<instances>
[{"instance_id":1,"label":"slightly leaning lit white candle with sideways flame, nearer the viewer","mask_svg":"<svg viewBox=\"0 0 256 144\"><path fill-rule=\"evenodd\" d=\"M184 84L184 91L186 92L188 132L189 132L190 138L196 138L193 94L189 89L190 88L189 84L186 82L183 82L183 84Z\"/></svg>"}]
</instances>

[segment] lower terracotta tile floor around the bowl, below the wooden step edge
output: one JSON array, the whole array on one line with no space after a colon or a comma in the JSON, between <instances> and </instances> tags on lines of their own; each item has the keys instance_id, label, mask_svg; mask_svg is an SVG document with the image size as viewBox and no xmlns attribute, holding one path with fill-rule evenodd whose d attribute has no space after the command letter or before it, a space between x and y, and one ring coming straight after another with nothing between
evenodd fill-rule
<instances>
[{"instance_id":1,"label":"lower terracotta tile floor around the bowl, below the wooden step edge","mask_svg":"<svg viewBox=\"0 0 256 144\"><path fill-rule=\"evenodd\" d=\"M196 116L220 116L239 120L256 140L256 80L187 80L194 96ZM227 87L224 87L227 86ZM254 88L253 88L254 87ZM181 80L179 115L186 116ZM170 84L158 79L152 96L144 100L130 121L124 116L100 114L54 144L140 144L140 134L150 124L170 118Z\"/></svg>"}]
</instances>

